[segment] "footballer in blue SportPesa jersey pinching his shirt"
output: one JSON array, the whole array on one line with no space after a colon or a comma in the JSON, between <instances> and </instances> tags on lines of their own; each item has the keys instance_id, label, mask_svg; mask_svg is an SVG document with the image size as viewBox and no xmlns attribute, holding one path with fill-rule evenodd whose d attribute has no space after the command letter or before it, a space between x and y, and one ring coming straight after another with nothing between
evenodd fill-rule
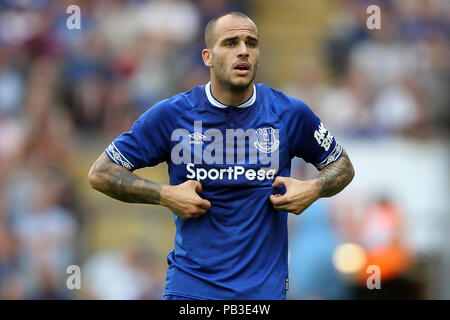
<instances>
[{"instance_id":1,"label":"footballer in blue SportPesa jersey pinching his shirt","mask_svg":"<svg viewBox=\"0 0 450 320\"><path fill-rule=\"evenodd\" d=\"M285 299L288 213L343 190L349 157L301 100L254 79L258 29L227 13L205 29L210 81L160 101L92 165L92 187L115 199L162 205L174 214L164 298ZM290 178L291 159L315 179ZM168 164L170 185L134 170Z\"/></svg>"}]
</instances>

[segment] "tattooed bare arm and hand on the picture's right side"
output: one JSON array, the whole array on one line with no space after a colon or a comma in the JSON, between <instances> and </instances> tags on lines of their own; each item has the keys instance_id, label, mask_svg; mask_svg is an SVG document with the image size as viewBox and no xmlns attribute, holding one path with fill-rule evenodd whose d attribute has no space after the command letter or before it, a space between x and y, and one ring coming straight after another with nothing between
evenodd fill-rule
<instances>
[{"instance_id":1,"label":"tattooed bare arm and hand on the picture's right side","mask_svg":"<svg viewBox=\"0 0 450 320\"><path fill-rule=\"evenodd\" d=\"M314 201L331 197L342 191L353 179L355 171L345 151L341 157L322 169L314 180L297 180L289 177L276 177L272 187L284 185L284 195L270 196L275 209L302 213Z\"/></svg>"}]
</instances>

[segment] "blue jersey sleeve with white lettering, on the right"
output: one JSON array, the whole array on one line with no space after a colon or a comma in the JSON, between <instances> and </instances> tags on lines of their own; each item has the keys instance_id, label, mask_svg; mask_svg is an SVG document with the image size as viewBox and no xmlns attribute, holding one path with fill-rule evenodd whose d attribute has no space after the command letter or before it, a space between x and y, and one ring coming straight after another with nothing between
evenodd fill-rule
<instances>
[{"instance_id":1,"label":"blue jersey sleeve with white lettering, on the right","mask_svg":"<svg viewBox=\"0 0 450 320\"><path fill-rule=\"evenodd\" d=\"M290 98L289 128L291 154L322 170L342 155L336 141L317 115L301 100Z\"/></svg>"}]
</instances>

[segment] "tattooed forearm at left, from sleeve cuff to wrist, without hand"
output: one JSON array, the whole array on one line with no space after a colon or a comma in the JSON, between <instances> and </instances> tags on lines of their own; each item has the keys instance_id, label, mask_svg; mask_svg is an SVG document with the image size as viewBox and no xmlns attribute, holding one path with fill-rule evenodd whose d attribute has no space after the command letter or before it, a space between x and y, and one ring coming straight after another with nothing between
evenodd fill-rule
<instances>
[{"instance_id":1,"label":"tattooed forearm at left, from sleeve cuff to wrist, without hand","mask_svg":"<svg viewBox=\"0 0 450 320\"><path fill-rule=\"evenodd\" d=\"M91 186L120 201L159 204L162 186L143 179L102 154L89 172Z\"/></svg>"}]
</instances>

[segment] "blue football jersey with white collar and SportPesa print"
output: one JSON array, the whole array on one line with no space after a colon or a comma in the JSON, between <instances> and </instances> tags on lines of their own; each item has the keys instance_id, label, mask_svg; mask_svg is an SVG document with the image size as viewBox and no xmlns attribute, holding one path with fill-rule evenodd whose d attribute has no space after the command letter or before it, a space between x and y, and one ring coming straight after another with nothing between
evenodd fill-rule
<instances>
[{"instance_id":1,"label":"blue football jersey with white collar and SportPesa print","mask_svg":"<svg viewBox=\"0 0 450 320\"><path fill-rule=\"evenodd\" d=\"M291 159L319 170L342 147L302 101L264 84L239 106L226 106L210 83L163 100L105 150L129 170L167 162L170 184L198 180L211 209L199 218L174 214L174 250L165 294L194 299L285 299L287 212L269 200Z\"/></svg>"}]
</instances>

